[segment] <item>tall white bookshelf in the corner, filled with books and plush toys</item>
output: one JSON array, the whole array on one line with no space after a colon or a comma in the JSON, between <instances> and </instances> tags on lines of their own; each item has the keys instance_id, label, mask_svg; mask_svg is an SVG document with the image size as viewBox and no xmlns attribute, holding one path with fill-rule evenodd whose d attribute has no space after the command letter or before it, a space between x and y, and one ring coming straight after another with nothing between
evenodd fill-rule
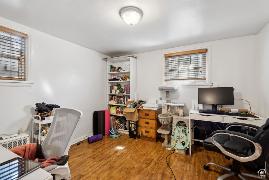
<instances>
[{"instance_id":1,"label":"tall white bookshelf in the corner, filled with books and plush toys","mask_svg":"<svg viewBox=\"0 0 269 180\"><path fill-rule=\"evenodd\" d=\"M107 79L111 79L112 75L123 76L128 75L130 77L130 81L107 81L107 104L109 102L109 96L110 95L124 95L124 96L130 96L130 101L134 101L134 92L136 92L136 59L133 57L127 57L127 56L120 56L120 57L113 57L113 58L107 58ZM123 63L128 62L130 63L130 71L120 71L120 72L110 72L110 65L113 65L114 67L123 67ZM129 94L111 94L110 93L110 86L113 84L119 83L122 88L124 89L124 85L130 84L130 93ZM108 109L110 106L121 106L122 108L125 108L126 105L123 104L108 104ZM124 116L125 115L114 115L114 116ZM128 122L128 121L127 121ZM126 124L128 128L128 123ZM121 133L129 133L129 130L123 130L119 129L117 130Z\"/></svg>"}]
</instances>

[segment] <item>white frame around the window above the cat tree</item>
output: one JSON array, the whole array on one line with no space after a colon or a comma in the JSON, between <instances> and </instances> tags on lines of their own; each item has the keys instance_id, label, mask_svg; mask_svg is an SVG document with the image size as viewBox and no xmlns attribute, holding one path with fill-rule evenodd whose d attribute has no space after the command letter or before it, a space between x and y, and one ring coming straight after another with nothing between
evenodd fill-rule
<instances>
[{"instance_id":1,"label":"white frame around the window above the cat tree","mask_svg":"<svg viewBox=\"0 0 269 180\"><path fill-rule=\"evenodd\" d=\"M170 53L178 53L183 51L192 51L197 49L207 49L207 55L206 55L206 80L171 80L171 81L165 81L165 67L164 62L165 54ZM193 83L194 82L194 83ZM213 84L211 83L211 46L202 46L202 47L195 47L195 48L186 48L186 49L180 49L177 51L172 52L165 52L162 54L162 86L177 86L178 88L202 88L202 87L211 87Z\"/></svg>"}]
</instances>

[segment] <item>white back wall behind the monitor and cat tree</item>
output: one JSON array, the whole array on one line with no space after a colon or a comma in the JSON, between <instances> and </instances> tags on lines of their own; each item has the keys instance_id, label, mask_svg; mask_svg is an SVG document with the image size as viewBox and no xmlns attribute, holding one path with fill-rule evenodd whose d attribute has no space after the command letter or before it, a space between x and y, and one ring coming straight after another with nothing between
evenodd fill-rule
<instances>
[{"instance_id":1,"label":"white back wall behind the monitor and cat tree","mask_svg":"<svg viewBox=\"0 0 269 180\"><path fill-rule=\"evenodd\" d=\"M141 100L158 99L162 103L163 112L166 112L165 91L158 91L158 87L163 84L164 53L211 46L211 82L219 84L219 87L234 87L234 97L247 99L252 106L252 111L259 113L256 89L256 36L237 37L135 54L137 56L137 98ZM172 102L185 103L184 113L188 114L192 99L198 99L197 92L197 88L178 88L176 91L170 92L170 99ZM159 100L160 97L162 100ZM224 107L249 109L248 103L242 100L235 100L234 106Z\"/></svg>"}]
</instances>

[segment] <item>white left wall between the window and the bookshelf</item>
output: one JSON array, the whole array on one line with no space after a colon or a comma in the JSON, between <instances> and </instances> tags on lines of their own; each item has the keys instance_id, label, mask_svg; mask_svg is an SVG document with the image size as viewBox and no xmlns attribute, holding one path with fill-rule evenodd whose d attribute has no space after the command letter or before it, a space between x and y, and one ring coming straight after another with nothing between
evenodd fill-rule
<instances>
[{"instance_id":1,"label":"white left wall between the window and the bookshelf","mask_svg":"<svg viewBox=\"0 0 269 180\"><path fill-rule=\"evenodd\" d=\"M106 108L107 62L101 58L107 56L3 18L0 23L31 33L34 82L32 87L0 86L0 135L26 130L37 102L81 110L74 139L92 132L93 111Z\"/></svg>"}]
</instances>

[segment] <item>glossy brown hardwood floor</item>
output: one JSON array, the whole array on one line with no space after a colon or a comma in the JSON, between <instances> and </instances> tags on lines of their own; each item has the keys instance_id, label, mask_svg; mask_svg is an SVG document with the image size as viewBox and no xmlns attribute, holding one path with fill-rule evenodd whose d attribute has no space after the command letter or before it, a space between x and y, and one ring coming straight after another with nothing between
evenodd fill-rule
<instances>
[{"instance_id":1,"label":"glossy brown hardwood floor","mask_svg":"<svg viewBox=\"0 0 269 180\"><path fill-rule=\"evenodd\" d=\"M173 151L157 143L129 138L128 134L112 139L106 134L103 140L84 143L70 148L68 164L72 179L174 179L165 158ZM176 179L217 179L228 171L209 165L211 171L203 169L207 162L216 162L228 167L231 160L223 155L192 146L192 155L173 153L167 162ZM188 151L187 151L188 152ZM249 172L241 166L242 172ZM255 172L249 172L257 174ZM247 178L247 177L246 177ZM228 178L229 179L229 178ZM230 179L239 179L232 176ZM248 179L248 178L247 178ZM249 178L250 179L250 178Z\"/></svg>"}]
</instances>

